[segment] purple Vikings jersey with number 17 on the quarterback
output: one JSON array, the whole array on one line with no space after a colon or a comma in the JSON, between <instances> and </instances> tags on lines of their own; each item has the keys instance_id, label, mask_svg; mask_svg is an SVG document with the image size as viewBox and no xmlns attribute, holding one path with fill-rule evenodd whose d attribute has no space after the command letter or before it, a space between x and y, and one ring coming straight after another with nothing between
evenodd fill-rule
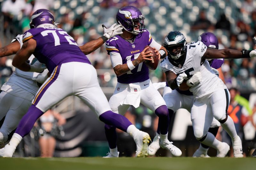
<instances>
[{"instance_id":1,"label":"purple Vikings jersey with number 17 on the quarterback","mask_svg":"<svg viewBox=\"0 0 256 170\"><path fill-rule=\"evenodd\" d=\"M136 35L133 43L124 40L120 35L109 39L106 42L106 49L108 54L111 52L119 53L122 57L123 64L125 64L127 61L133 61L138 58L145 46L150 45L151 42L152 37L145 29L144 32ZM133 70L121 76L117 76L117 81L124 84L142 82L148 79L148 67L143 62L137 65Z\"/></svg>"}]
</instances>

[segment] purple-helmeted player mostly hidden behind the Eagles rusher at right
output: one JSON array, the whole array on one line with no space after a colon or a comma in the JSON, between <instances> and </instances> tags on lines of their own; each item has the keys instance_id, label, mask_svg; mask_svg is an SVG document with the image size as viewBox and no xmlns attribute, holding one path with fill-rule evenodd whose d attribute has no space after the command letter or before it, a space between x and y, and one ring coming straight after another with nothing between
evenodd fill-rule
<instances>
[{"instance_id":1,"label":"purple-helmeted player mostly hidden behind the Eagles rusher at right","mask_svg":"<svg viewBox=\"0 0 256 170\"><path fill-rule=\"evenodd\" d=\"M174 33L174 32L173 32ZM167 39L165 39L164 44L168 44L166 42ZM185 41L185 40L184 40ZM213 33L203 33L198 37L198 41L204 42L204 44L207 46L207 48L216 48L219 49L219 42L217 37ZM166 47L168 48L168 47ZM168 57L171 57L171 55L168 55ZM166 57L162 62L161 66L165 66L166 62L165 60L168 60L168 57ZM210 66L212 70L216 72L216 74L220 74L220 78L224 82L224 77L221 71L221 65L224 63L223 59L214 59L214 60L208 60L210 63ZM163 71L165 72L165 67L163 68ZM197 73L199 76L198 83L201 81L201 73ZM184 108L188 110L188 112L191 112L191 107L193 106L194 98L193 93L189 90L181 91L179 88L172 90L168 84L166 85L162 84L162 87L164 87L163 90L163 98L166 102L166 105L169 110L169 117L170 120L172 118L173 113L175 113L179 108ZM158 85L159 86L159 85ZM220 126L220 122L218 122L215 118L213 118L213 122L211 124L211 127L209 128L209 132L211 132L214 136L216 136L218 129ZM156 133L156 136L154 137L153 142L148 146L148 153L149 155L155 155L156 151L160 148L159 144L159 132ZM209 157L207 155L209 147L201 144L199 149L196 150L193 157Z\"/></svg>"}]
</instances>

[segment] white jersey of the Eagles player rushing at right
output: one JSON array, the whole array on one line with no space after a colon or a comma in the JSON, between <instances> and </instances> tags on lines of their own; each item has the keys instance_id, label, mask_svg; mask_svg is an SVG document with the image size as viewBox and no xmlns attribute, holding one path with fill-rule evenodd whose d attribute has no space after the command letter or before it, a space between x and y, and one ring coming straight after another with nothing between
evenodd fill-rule
<instances>
[{"instance_id":1,"label":"white jersey of the Eagles player rushing at right","mask_svg":"<svg viewBox=\"0 0 256 170\"><path fill-rule=\"evenodd\" d=\"M181 64L174 66L169 61L168 57L165 57L165 59L160 63L162 71L166 72L170 70L176 75L185 72L190 77L200 71L202 74L202 81L189 88L189 91L193 92L196 99L220 88L227 89L222 80L212 71L210 64L202 58L207 49L206 45L201 41L196 41L187 44L186 48L187 52L184 54L186 55L186 59L183 66Z\"/></svg>"}]
</instances>

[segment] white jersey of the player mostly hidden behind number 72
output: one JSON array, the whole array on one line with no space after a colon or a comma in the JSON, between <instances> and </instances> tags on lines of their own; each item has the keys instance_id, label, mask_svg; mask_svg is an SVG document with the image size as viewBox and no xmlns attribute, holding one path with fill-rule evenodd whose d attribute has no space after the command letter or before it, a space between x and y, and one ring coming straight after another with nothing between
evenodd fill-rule
<instances>
[{"instance_id":1,"label":"white jersey of the player mostly hidden behind number 72","mask_svg":"<svg viewBox=\"0 0 256 170\"><path fill-rule=\"evenodd\" d=\"M12 42L19 41L21 48L23 45L22 37L23 35L17 35L12 40ZM29 64L31 64L34 58L34 55L31 55L28 58ZM47 74L48 71L44 70L44 72ZM26 72L15 68L15 72L13 72L9 80L6 83L4 83L4 85L1 87L1 90L11 93L14 96L18 96L32 101L39 87L36 85L36 81L33 81L31 78L36 77L38 74L39 73L36 72ZM20 88L24 89L25 92L22 91Z\"/></svg>"}]
</instances>

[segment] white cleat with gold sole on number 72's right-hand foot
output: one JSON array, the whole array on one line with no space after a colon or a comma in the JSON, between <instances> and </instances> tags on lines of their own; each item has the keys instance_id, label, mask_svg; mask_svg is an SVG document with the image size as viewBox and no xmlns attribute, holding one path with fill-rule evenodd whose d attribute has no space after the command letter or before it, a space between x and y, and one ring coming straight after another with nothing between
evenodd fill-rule
<instances>
[{"instance_id":1,"label":"white cleat with gold sole on number 72's right-hand foot","mask_svg":"<svg viewBox=\"0 0 256 170\"><path fill-rule=\"evenodd\" d=\"M133 139L136 143L136 157L147 157L148 156L148 144L151 141L148 133L143 131L138 131Z\"/></svg>"}]
</instances>

